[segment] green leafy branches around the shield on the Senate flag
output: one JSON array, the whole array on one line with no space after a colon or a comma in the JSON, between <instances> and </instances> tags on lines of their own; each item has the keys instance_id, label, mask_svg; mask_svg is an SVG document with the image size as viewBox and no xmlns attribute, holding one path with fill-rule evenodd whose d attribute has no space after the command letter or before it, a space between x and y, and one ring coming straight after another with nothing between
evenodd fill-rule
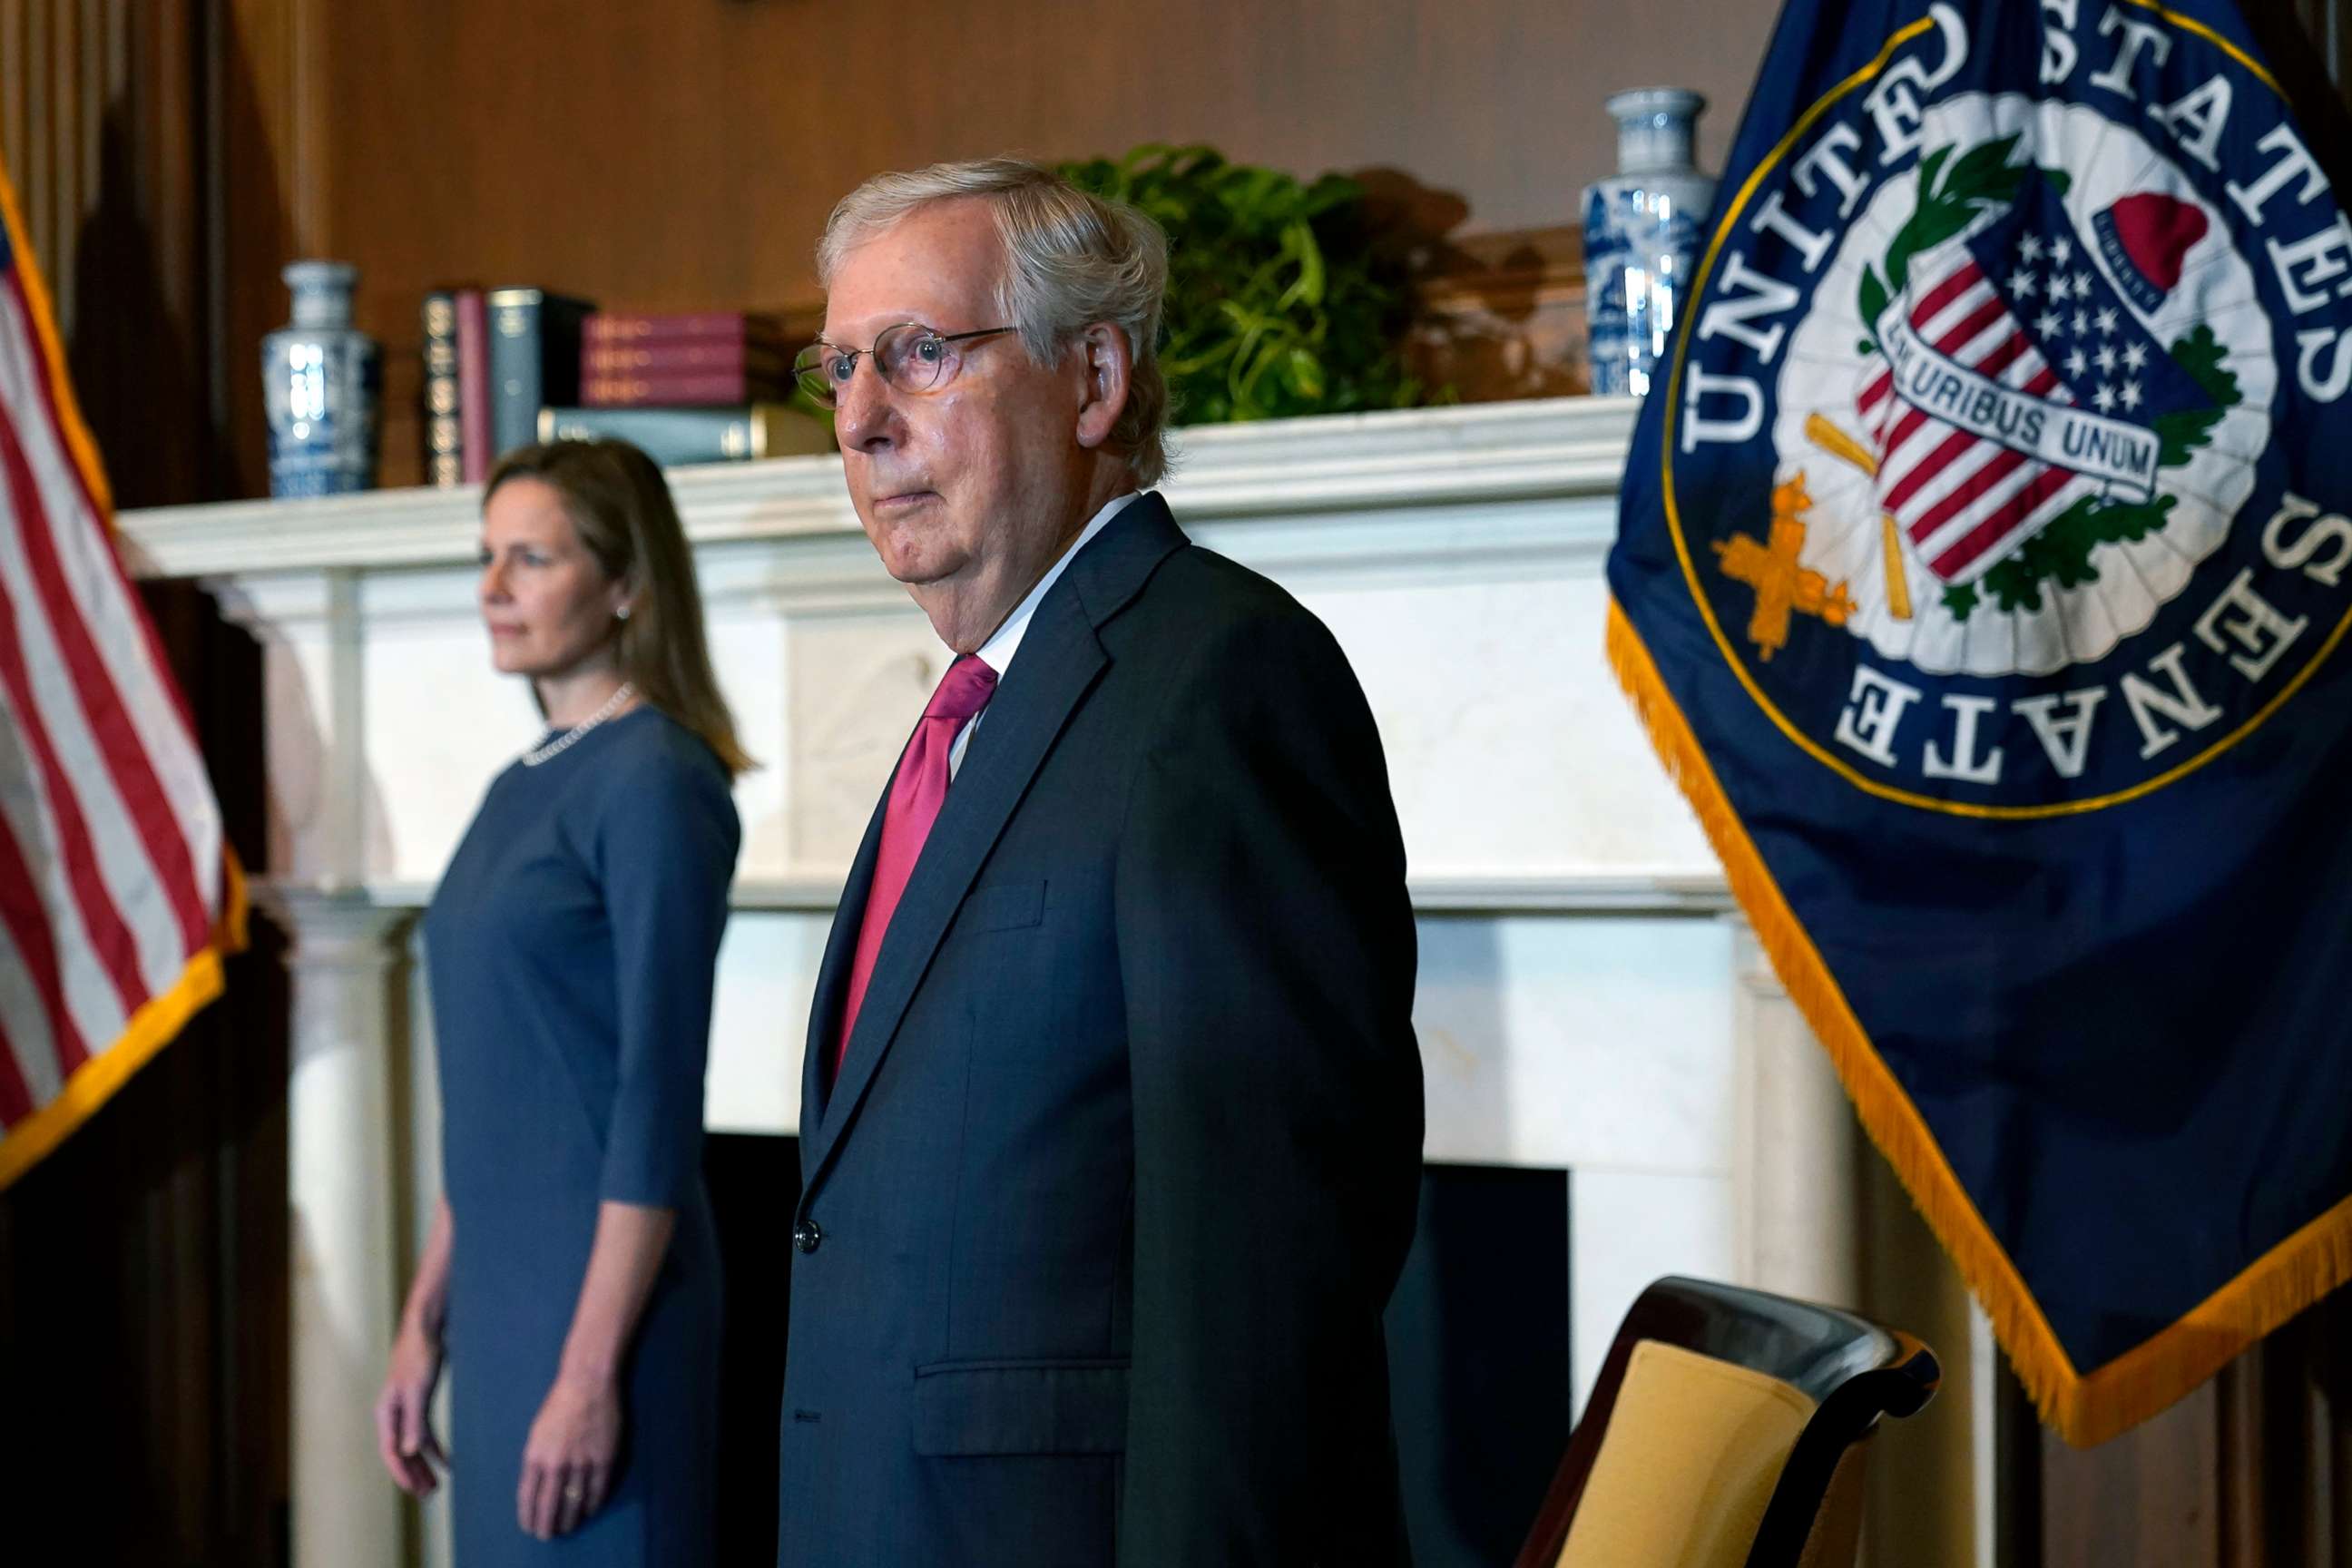
<instances>
[{"instance_id":1,"label":"green leafy branches around the shield on the Senate flag","mask_svg":"<svg viewBox=\"0 0 2352 1568\"><path fill-rule=\"evenodd\" d=\"M2032 165L2009 162L2018 148L2018 134L1983 141L1959 158L1957 143L1947 143L1919 160L1919 205L1910 221L1896 230L1879 266L1863 263L1858 308L1863 313L1860 353L1884 353L1877 343L1879 317L1886 306L1910 284L1910 263L1919 252L1933 249L1957 237L1980 214L2009 207L2025 188ZM2049 186L2065 195L2072 179L2065 169L2039 169ZM2166 353L2211 400L2201 409L2176 409L2147 421L2157 437L2157 465L2176 468L2190 454L2213 440L2220 416L2244 402L2237 376L2227 369L2227 350L2213 329L2199 324L2178 339ZM1943 590L1943 604L1957 621L1966 621L1983 602L1983 592L2004 611L2039 611L2042 585L2082 588L2098 581L2091 555L2105 543L2129 543L2147 538L2161 529L2173 510L2173 496L2152 501L2114 501L2107 496L2082 496L2058 512L2013 555L2002 557L1983 578ZM1980 592L1983 590L1983 592Z\"/></svg>"}]
</instances>

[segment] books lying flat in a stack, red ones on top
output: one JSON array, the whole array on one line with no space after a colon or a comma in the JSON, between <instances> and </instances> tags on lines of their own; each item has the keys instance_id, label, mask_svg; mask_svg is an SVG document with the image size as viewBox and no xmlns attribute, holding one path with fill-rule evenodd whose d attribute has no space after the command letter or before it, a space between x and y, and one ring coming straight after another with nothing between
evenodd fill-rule
<instances>
[{"instance_id":1,"label":"books lying flat in a stack, red ones on top","mask_svg":"<svg viewBox=\"0 0 2352 1568\"><path fill-rule=\"evenodd\" d=\"M793 400L793 348L771 315L597 313L581 329L581 407L550 407L539 440L609 435L659 463L830 451L833 430Z\"/></svg>"}]
</instances>

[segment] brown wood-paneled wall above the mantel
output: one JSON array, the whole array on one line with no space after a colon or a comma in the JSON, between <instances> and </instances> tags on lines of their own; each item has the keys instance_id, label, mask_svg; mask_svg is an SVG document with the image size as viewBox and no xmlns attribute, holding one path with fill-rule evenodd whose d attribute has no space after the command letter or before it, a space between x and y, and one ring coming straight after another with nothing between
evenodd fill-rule
<instances>
[{"instance_id":1,"label":"brown wood-paneled wall above the mantel","mask_svg":"<svg viewBox=\"0 0 2352 1568\"><path fill-rule=\"evenodd\" d=\"M1456 233L1555 226L1613 167L1599 101L1618 87L1708 92L1703 158L1717 162L1773 14L1710 0L235 9L245 56L230 66L292 113L270 148L292 214L280 233L360 266L360 322L388 350L388 484L419 475L416 303L435 284L536 282L647 310L795 306L814 292L826 212L866 174L1155 139L1303 174L1392 169ZM263 28L306 35L308 52L256 49ZM308 85L266 87L270 61ZM285 308L252 249L228 334L240 454L261 433L249 343Z\"/></svg>"}]
</instances>

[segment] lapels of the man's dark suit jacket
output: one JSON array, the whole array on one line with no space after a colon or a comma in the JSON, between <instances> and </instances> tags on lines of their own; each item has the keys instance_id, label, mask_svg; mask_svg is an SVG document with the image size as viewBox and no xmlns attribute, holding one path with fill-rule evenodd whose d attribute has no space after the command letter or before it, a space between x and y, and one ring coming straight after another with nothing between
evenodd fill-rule
<instances>
[{"instance_id":1,"label":"lapels of the man's dark suit jacket","mask_svg":"<svg viewBox=\"0 0 2352 1568\"><path fill-rule=\"evenodd\" d=\"M1021 639L1021 654L1004 672L1004 682L988 703L985 722L964 750L964 762L948 788L948 802L941 806L938 820L931 823L931 837L924 839L915 875L908 877L906 893L898 896L898 910L882 938L882 952L875 954L875 971L866 983L866 1001L858 1004L858 1027L849 1039L842 1077L816 1121L814 1143L802 1145L800 1164L807 1185L816 1185L842 1133L856 1119L866 1086L873 1084L875 1070L889 1053L898 1020L906 1016L931 954L938 952L948 922L955 919L964 893L971 891L981 863L995 849L1004 823L1028 792L1030 778L1037 776L1070 712L1110 663L1094 628L1117 614L1143 588L1150 571L1183 543L1167 503L1145 494L1129 503L1127 515L1105 527L1070 562L1061 581L1037 604L1035 621ZM884 788L887 799L889 790ZM840 1016L840 985L847 980L866 891L873 886L880 823L882 811L877 809L849 886L842 891L833 938L826 943L818 1011L809 1025L807 1072L811 1084L821 1072L816 1053L826 1046L826 1025ZM802 1138L807 1140L811 1133L804 1128Z\"/></svg>"}]
</instances>

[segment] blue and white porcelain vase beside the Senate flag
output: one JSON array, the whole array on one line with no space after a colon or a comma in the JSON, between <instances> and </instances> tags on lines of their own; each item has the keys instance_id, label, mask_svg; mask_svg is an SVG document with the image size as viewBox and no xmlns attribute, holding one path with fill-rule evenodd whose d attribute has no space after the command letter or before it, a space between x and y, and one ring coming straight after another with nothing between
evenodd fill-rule
<instances>
[{"instance_id":1,"label":"blue and white porcelain vase beside the Senate flag","mask_svg":"<svg viewBox=\"0 0 2352 1568\"><path fill-rule=\"evenodd\" d=\"M1682 87L1639 87L1604 103L1618 122L1618 172L1585 186L1595 393L1646 393L1691 299L1698 226L1715 200L1715 181L1691 162L1705 106Z\"/></svg>"}]
</instances>

